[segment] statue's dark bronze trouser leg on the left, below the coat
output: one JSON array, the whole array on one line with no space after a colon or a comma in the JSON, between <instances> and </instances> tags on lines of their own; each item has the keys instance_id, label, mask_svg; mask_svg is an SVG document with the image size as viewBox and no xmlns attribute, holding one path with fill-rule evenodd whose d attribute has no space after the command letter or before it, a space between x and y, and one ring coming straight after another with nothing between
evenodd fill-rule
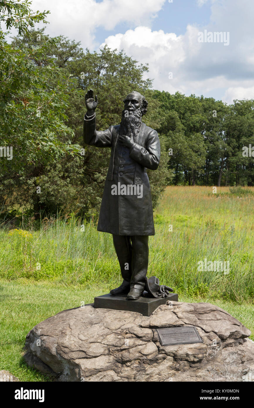
<instances>
[{"instance_id":1,"label":"statue's dark bronze trouser leg on the left, below the coat","mask_svg":"<svg viewBox=\"0 0 254 408\"><path fill-rule=\"evenodd\" d=\"M117 258L120 264L121 275L126 282L130 282L132 275L132 245L130 236L127 235L113 235L113 244Z\"/></svg>"}]
</instances>

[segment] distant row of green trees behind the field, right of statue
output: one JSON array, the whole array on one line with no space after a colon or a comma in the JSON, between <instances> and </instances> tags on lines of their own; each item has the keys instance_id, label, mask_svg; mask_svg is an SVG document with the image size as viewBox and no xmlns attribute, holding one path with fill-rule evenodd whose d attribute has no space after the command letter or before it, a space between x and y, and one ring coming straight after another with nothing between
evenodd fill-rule
<instances>
[{"instance_id":1,"label":"distant row of green trees behind the field, right of statue","mask_svg":"<svg viewBox=\"0 0 254 408\"><path fill-rule=\"evenodd\" d=\"M168 168L174 184L254 185L252 157L254 100L227 106L214 98L154 91L161 110L159 133L172 149Z\"/></svg>"}]
</instances>

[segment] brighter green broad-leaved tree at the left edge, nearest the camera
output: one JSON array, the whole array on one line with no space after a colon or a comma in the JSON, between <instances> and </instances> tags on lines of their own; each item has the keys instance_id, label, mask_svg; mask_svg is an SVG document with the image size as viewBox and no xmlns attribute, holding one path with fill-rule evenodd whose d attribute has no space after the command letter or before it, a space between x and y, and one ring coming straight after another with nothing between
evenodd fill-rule
<instances>
[{"instance_id":1,"label":"brighter green broad-leaved tree at the left edge, nearest the camera","mask_svg":"<svg viewBox=\"0 0 254 408\"><path fill-rule=\"evenodd\" d=\"M1 145L13 149L12 160L1 158L1 205L31 206L37 212L40 177L49 166L80 157L80 146L71 144L74 133L65 123L73 84L54 62L33 63L54 43L51 39L21 49L0 38Z\"/></svg>"}]
</instances>

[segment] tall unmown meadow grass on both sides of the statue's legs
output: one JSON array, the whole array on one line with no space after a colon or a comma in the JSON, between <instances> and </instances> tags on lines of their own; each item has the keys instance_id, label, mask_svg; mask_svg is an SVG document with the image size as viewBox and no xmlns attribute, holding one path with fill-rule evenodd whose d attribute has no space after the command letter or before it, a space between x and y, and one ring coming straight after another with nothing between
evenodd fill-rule
<instances>
[{"instance_id":1,"label":"tall unmown meadow grass on both sides of the statue's legs","mask_svg":"<svg viewBox=\"0 0 254 408\"><path fill-rule=\"evenodd\" d=\"M185 295L252 301L254 189L248 190L252 193L242 198L225 187L217 188L217 194L212 187L166 188L154 213L148 276L158 276ZM99 281L108 288L121 281L112 236L98 232L95 219L57 217L44 220L39 229L27 224L17 231L5 226L0 242L0 276L7 279L86 287ZM198 262L205 258L229 261L229 273L199 272Z\"/></svg>"}]
</instances>

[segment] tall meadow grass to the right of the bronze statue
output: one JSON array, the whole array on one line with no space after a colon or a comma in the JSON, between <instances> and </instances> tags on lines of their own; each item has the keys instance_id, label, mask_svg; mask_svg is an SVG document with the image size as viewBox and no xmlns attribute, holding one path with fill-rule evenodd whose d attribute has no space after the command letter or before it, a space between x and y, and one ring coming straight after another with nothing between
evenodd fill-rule
<instances>
[{"instance_id":1,"label":"tall meadow grass to the right of the bronze statue","mask_svg":"<svg viewBox=\"0 0 254 408\"><path fill-rule=\"evenodd\" d=\"M252 195L240 197L230 190L221 187L213 194L212 187L166 189L155 212L150 268L180 293L253 302L254 188L242 188ZM199 272L198 262L205 258L229 261L229 273Z\"/></svg>"}]
</instances>

